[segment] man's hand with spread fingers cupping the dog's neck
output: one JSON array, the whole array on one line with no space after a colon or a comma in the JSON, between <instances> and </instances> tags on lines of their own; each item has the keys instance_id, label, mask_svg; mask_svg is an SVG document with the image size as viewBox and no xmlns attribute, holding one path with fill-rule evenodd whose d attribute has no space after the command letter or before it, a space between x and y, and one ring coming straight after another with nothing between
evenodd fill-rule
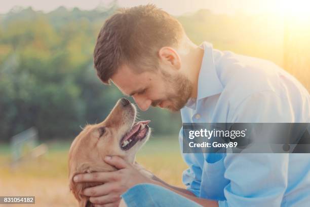
<instances>
[{"instance_id":1,"label":"man's hand with spread fingers cupping the dog's neck","mask_svg":"<svg viewBox=\"0 0 310 207\"><path fill-rule=\"evenodd\" d=\"M119 206L121 195L140 183L152 183L135 166L118 156L107 156L104 161L118 170L111 172L92 172L76 175L74 182L98 182L102 185L86 188L83 194L90 196L90 202L103 206Z\"/></svg>"}]
</instances>

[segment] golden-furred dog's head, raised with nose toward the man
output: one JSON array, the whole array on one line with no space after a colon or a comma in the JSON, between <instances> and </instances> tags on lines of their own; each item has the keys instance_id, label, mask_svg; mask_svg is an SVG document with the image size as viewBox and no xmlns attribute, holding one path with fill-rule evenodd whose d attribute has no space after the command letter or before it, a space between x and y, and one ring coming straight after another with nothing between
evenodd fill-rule
<instances>
[{"instance_id":1,"label":"golden-furred dog's head, raised with nose toward the man","mask_svg":"<svg viewBox=\"0 0 310 207\"><path fill-rule=\"evenodd\" d=\"M74 183L72 179L76 174L116 170L103 161L107 155L117 155L134 163L137 151L147 141L151 130L147 125L149 121L135 122L135 119L135 106L121 98L103 122L87 125L75 137L69 151L69 182L80 206L91 206L82 190L99 183Z\"/></svg>"}]
</instances>

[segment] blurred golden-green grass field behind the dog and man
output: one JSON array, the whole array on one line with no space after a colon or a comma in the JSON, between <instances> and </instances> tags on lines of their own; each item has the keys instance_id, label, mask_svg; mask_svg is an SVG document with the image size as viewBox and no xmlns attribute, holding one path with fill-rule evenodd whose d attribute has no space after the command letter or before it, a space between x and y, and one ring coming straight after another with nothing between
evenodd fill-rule
<instances>
[{"instance_id":1,"label":"blurred golden-green grass field behind the dog and man","mask_svg":"<svg viewBox=\"0 0 310 207\"><path fill-rule=\"evenodd\" d=\"M77 206L68 188L69 146L68 142L50 143L48 154L41 159L14 168L10 166L9 147L0 146L0 196L35 196L36 204L25 206ZM186 164L177 136L151 137L138 153L137 161L169 184L182 186L181 174Z\"/></svg>"}]
</instances>

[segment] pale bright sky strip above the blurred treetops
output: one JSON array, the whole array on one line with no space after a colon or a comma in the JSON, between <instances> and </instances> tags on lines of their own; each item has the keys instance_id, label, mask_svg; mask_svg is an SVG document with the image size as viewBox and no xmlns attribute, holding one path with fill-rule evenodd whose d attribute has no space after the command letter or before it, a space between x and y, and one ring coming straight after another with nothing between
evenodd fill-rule
<instances>
[{"instance_id":1,"label":"pale bright sky strip above the blurred treetops","mask_svg":"<svg viewBox=\"0 0 310 207\"><path fill-rule=\"evenodd\" d=\"M284 0L285 1L285 0ZM14 6L29 7L44 12L52 11L60 6L68 9L78 7L82 10L92 10L98 6L109 5L111 0L0 0L0 13L9 12ZM119 0L121 7L132 7L155 4L172 15L195 12L200 9L210 9L215 13L234 14L239 11L259 13L273 11L279 8L283 0Z\"/></svg>"}]
</instances>

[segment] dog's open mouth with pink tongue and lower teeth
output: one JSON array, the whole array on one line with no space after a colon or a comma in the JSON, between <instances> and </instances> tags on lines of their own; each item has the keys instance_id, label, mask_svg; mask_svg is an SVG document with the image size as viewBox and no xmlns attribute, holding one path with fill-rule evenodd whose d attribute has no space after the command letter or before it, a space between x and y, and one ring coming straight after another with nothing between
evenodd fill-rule
<instances>
[{"instance_id":1,"label":"dog's open mouth with pink tongue and lower teeth","mask_svg":"<svg viewBox=\"0 0 310 207\"><path fill-rule=\"evenodd\" d=\"M149 130L148 123L150 121L139 121L134 123L131 129L123 136L121 140L121 148L123 150L129 150L132 148L138 141L143 140Z\"/></svg>"}]
</instances>

